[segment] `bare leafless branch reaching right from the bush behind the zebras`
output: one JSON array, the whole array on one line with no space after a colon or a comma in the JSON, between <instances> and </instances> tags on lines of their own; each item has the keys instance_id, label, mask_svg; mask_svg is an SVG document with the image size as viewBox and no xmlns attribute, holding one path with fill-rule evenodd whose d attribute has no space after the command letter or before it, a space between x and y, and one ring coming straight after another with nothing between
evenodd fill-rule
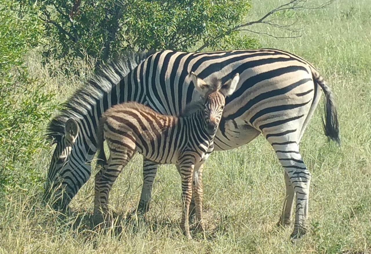
<instances>
[{"instance_id":1,"label":"bare leafless branch reaching right from the bush behind the zebras","mask_svg":"<svg viewBox=\"0 0 371 254\"><path fill-rule=\"evenodd\" d=\"M299 29L294 29L293 26L294 25L297 25L296 22L293 22L292 24L289 24L289 25L280 25L280 24L273 23L273 21L271 19L267 20L267 18L268 17L271 17L274 13L285 11L285 10L294 10L294 11L296 11L296 10L317 10L317 9L323 9L323 8L327 7L329 4L331 4L332 2L334 2L334 0L328 0L325 3L320 4L318 6L308 6L308 0L291 0L288 3L282 4L282 5L278 6L278 7L276 7L275 9L270 10L268 13L266 13L264 16L262 16L258 20L254 20L254 21L242 23L242 24L239 24L239 25L236 25L236 26L230 28L226 33L221 34L219 36L216 36L216 38L214 38L214 40L221 39L224 36L230 35L231 33L235 32L235 31L243 31L243 30L244 31L249 31L249 32L252 32L252 33L257 33L257 34L263 34L263 35L271 36L271 37L274 37L274 38L298 38L301 35L283 36L283 37L282 36L274 36L274 35L271 35L269 33L256 32L256 31L253 31L253 30L250 30L250 29L246 29L246 27L247 26L252 26L252 25L255 25L255 24L265 24L265 25L276 27L276 28L279 28L279 29L288 30L290 32L299 33L299 32L302 31L302 27L300 27ZM206 48L209 45L210 45L210 42L206 42L206 43L204 43L204 45L202 45L200 48L198 48L197 51L201 51L201 50L203 50L204 48Z\"/></svg>"}]
</instances>

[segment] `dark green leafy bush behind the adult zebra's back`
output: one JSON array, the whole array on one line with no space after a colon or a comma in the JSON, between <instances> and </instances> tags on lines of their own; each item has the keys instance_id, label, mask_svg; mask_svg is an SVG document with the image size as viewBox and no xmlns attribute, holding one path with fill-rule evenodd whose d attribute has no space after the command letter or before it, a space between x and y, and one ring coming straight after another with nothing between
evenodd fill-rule
<instances>
[{"instance_id":1,"label":"dark green leafy bush behind the adult zebra's back","mask_svg":"<svg viewBox=\"0 0 371 254\"><path fill-rule=\"evenodd\" d=\"M83 59L87 54L105 61L138 49L189 51L196 43L207 43L210 49L257 45L250 38L235 47L227 44L238 40L238 33L230 30L249 12L247 0L19 1L42 9L50 42L46 59Z\"/></svg>"}]
</instances>

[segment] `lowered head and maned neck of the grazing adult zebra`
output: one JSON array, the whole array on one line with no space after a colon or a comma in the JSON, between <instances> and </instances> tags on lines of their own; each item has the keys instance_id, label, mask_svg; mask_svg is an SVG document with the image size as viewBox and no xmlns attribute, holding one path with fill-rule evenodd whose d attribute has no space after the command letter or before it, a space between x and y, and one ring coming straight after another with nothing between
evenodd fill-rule
<instances>
[{"instance_id":1,"label":"lowered head and maned neck of the grazing adult zebra","mask_svg":"<svg viewBox=\"0 0 371 254\"><path fill-rule=\"evenodd\" d=\"M123 85L127 87L122 82L124 77L151 54L127 53L118 61L102 66L84 87L74 92L50 121L47 137L56 146L47 173L45 199L53 197L50 200L53 208L66 209L71 198L89 179L90 162L96 152L94 133L99 117L123 100L121 94L112 92L112 89Z\"/></svg>"}]
</instances>

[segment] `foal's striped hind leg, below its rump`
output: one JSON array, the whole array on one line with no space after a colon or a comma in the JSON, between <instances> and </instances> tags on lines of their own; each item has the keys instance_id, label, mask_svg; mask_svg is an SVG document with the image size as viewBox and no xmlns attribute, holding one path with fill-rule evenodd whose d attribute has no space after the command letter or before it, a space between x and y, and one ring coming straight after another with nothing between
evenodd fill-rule
<instances>
[{"instance_id":1,"label":"foal's striped hind leg, below its rump","mask_svg":"<svg viewBox=\"0 0 371 254\"><path fill-rule=\"evenodd\" d=\"M98 173L98 178L95 181L95 198L96 205L94 207L95 221L99 222L101 219L107 219L108 216L108 197L112 185L120 174L121 170L128 164L132 156L133 150L126 148L122 152L118 150L111 150L108 162L104 167L102 173Z\"/></svg>"}]
</instances>

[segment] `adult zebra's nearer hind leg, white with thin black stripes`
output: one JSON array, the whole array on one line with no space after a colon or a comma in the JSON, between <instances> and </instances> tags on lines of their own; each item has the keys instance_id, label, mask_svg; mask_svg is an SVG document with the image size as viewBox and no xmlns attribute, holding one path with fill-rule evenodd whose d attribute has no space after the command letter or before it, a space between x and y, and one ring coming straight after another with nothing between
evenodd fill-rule
<instances>
[{"instance_id":1,"label":"adult zebra's nearer hind leg, white with thin black stripes","mask_svg":"<svg viewBox=\"0 0 371 254\"><path fill-rule=\"evenodd\" d=\"M309 201L309 185L311 182L311 173L307 169L299 153L299 146L296 142L288 142L289 144L277 145L273 143L276 154L285 169L285 173L291 181L292 189L296 195L295 206L295 226L291 234L291 238L296 239L302 237L308 229L308 201ZM277 143L275 143L277 144ZM289 193L290 194L290 193ZM293 195L289 195L292 198ZM287 206L289 206L287 201ZM286 209L286 205L284 207ZM290 209L288 209L290 211ZM288 212L285 210L283 214Z\"/></svg>"}]
</instances>

